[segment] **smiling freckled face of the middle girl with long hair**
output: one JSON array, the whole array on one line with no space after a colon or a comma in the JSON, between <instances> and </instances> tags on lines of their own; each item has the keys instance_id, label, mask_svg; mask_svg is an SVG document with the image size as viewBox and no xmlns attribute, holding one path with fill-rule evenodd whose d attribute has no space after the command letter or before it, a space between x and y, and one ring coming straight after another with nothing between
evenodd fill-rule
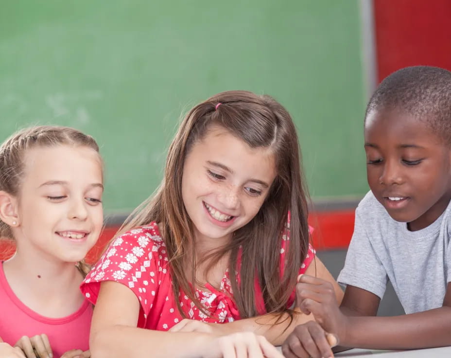
<instances>
[{"instance_id":1,"label":"smiling freckled face of the middle girl with long hair","mask_svg":"<svg viewBox=\"0 0 451 358\"><path fill-rule=\"evenodd\" d=\"M182 198L196 241L230 240L258 213L276 177L269 148L251 148L222 126L212 125L194 143L183 167Z\"/></svg>"}]
</instances>

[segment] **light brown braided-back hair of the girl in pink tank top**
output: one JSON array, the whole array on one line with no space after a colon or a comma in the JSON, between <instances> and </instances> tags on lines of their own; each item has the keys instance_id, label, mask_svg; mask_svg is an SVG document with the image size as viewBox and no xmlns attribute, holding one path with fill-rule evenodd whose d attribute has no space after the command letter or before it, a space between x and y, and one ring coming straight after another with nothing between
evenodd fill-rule
<instances>
[{"instance_id":1,"label":"light brown braided-back hair of the girl in pink tank top","mask_svg":"<svg viewBox=\"0 0 451 358\"><path fill-rule=\"evenodd\" d=\"M14 196L20 196L20 185L24 173L24 157L27 150L36 147L55 145L80 146L94 149L99 146L89 135L74 128L64 126L40 125L21 129L6 139L0 146L0 190ZM102 159L99 154L99 160ZM0 237L14 240L8 224L0 220ZM84 260L77 264L83 275L90 270Z\"/></svg>"}]
</instances>

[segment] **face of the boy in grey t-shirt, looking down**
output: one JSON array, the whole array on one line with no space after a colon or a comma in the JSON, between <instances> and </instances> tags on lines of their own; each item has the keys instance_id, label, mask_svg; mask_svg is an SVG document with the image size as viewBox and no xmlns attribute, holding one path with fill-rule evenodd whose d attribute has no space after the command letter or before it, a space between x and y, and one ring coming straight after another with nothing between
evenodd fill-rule
<instances>
[{"instance_id":1,"label":"face of the boy in grey t-shirt, looking down","mask_svg":"<svg viewBox=\"0 0 451 358\"><path fill-rule=\"evenodd\" d=\"M416 231L431 225L451 198L451 150L429 125L396 109L365 122L366 173L374 196Z\"/></svg>"}]
</instances>

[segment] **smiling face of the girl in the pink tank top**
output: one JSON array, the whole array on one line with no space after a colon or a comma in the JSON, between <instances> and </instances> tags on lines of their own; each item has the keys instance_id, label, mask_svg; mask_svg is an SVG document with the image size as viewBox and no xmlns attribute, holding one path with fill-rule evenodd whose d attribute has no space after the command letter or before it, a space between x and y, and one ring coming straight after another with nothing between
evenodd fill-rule
<instances>
[{"instance_id":1,"label":"smiling face of the girl in the pink tank top","mask_svg":"<svg viewBox=\"0 0 451 358\"><path fill-rule=\"evenodd\" d=\"M18 251L77 262L103 225L103 172L93 149L56 145L29 149L17 198Z\"/></svg>"}]
</instances>

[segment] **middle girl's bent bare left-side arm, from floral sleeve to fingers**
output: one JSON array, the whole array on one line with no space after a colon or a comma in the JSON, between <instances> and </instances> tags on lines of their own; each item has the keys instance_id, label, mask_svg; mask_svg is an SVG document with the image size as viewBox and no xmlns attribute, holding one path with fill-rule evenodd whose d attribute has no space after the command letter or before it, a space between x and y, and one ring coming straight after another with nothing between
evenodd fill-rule
<instances>
[{"instance_id":1,"label":"middle girl's bent bare left-side arm, from floral sleeve to fingers","mask_svg":"<svg viewBox=\"0 0 451 358\"><path fill-rule=\"evenodd\" d=\"M142 329L136 327L138 315L138 298L128 287L117 282L103 282L92 317L89 339L92 356L220 358L233 350L262 352L256 357L264 354L268 358L283 358L267 340L252 333L217 337L199 332Z\"/></svg>"}]
</instances>

